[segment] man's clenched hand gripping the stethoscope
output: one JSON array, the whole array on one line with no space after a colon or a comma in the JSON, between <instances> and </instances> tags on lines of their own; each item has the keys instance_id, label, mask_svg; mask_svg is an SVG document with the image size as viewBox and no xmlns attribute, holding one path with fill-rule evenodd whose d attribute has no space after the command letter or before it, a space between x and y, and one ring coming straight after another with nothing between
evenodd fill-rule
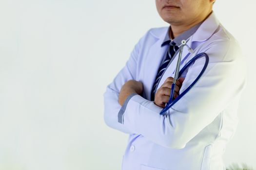
<instances>
[{"instance_id":1,"label":"man's clenched hand gripping the stethoscope","mask_svg":"<svg viewBox=\"0 0 256 170\"><path fill-rule=\"evenodd\" d=\"M179 89L183 83L185 78L180 77L178 81L176 81L175 90L174 90L174 98L177 98L179 95ZM173 77L168 77L164 83L158 88L154 103L159 107L164 107L165 103L169 102L172 84L174 82Z\"/></svg>"}]
</instances>

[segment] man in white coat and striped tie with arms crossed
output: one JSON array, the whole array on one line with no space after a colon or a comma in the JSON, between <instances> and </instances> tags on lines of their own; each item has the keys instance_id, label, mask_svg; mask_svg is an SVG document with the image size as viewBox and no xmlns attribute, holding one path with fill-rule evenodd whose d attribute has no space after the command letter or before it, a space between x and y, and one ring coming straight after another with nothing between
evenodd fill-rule
<instances>
[{"instance_id":1,"label":"man in white coat and striped tie with arms crossed","mask_svg":"<svg viewBox=\"0 0 256 170\"><path fill-rule=\"evenodd\" d=\"M129 134L122 170L225 170L226 143L234 135L245 85L244 58L235 38L212 11L214 0L156 0L169 27L150 29L104 93L108 126ZM209 64L197 84L169 110L181 40L180 68L206 52ZM197 78L199 58L178 79L175 98Z\"/></svg>"}]
</instances>

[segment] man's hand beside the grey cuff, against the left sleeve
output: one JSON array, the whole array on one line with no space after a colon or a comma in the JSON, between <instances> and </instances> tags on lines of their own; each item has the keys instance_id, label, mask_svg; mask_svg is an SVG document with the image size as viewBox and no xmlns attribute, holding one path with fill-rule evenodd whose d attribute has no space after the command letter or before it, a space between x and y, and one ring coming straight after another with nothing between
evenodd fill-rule
<instances>
[{"instance_id":1,"label":"man's hand beside the grey cuff, against the left sleeve","mask_svg":"<svg viewBox=\"0 0 256 170\"><path fill-rule=\"evenodd\" d=\"M129 80L122 86L118 96L118 102L122 106L126 98L130 94L137 93L141 95L142 92L143 92L143 84L141 82L138 82L136 80Z\"/></svg>"}]
</instances>

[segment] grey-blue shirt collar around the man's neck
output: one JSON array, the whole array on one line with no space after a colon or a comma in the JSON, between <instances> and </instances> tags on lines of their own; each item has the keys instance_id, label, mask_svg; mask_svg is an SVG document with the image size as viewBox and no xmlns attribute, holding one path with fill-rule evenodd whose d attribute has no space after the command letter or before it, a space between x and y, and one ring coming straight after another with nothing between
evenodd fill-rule
<instances>
[{"instance_id":1,"label":"grey-blue shirt collar around the man's neck","mask_svg":"<svg viewBox=\"0 0 256 170\"><path fill-rule=\"evenodd\" d=\"M175 37L174 39L171 39L171 37L169 36L169 31L171 29L171 25L169 26L165 37L163 39L163 42L161 44L161 47L166 45L166 44L171 44L173 42L176 43L176 45L179 47L181 45L181 41L187 40L192 34L194 34L198 27L202 24L202 22L199 22L197 25L193 26L192 28L188 29L187 31L183 32L182 34L179 34L177 37Z\"/></svg>"}]
</instances>

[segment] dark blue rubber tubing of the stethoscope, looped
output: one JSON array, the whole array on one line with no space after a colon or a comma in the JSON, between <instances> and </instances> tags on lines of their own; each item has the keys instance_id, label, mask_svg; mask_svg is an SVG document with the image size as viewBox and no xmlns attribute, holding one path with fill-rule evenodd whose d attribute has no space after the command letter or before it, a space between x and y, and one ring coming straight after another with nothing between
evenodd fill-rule
<instances>
[{"instance_id":1,"label":"dark blue rubber tubing of the stethoscope, looped","mask_svg":"<svg viewBox=\"0 0 256 170\"><path fill-rule=\"evenodd\" d=\"M209 63L209 56L205 53L205 52L201 52L199 54L197 54L195 57L193 57L178 73L178 77L181 76L181 74L190 66L192 65L198 58L201 57L205 57L205 63L204 66L201 70L201 72L199 73L199 75L197 76L197 78L194 80L194 82L192 82L191 85L189 85L176 99L173 100L173 96L174 96L174 89L175 89L175 83L172 84L172 89L171 89L171 95L170 95L170 99L169 102L166 104L166 106L161 110L160 115L164 115L167 116L166 112L180 99L182 98L196 83L197 81L200 79L200 77L202 76L202 74L204 73L204 71L206 70L208 63Z\"/></svg>"}]
</instances>

